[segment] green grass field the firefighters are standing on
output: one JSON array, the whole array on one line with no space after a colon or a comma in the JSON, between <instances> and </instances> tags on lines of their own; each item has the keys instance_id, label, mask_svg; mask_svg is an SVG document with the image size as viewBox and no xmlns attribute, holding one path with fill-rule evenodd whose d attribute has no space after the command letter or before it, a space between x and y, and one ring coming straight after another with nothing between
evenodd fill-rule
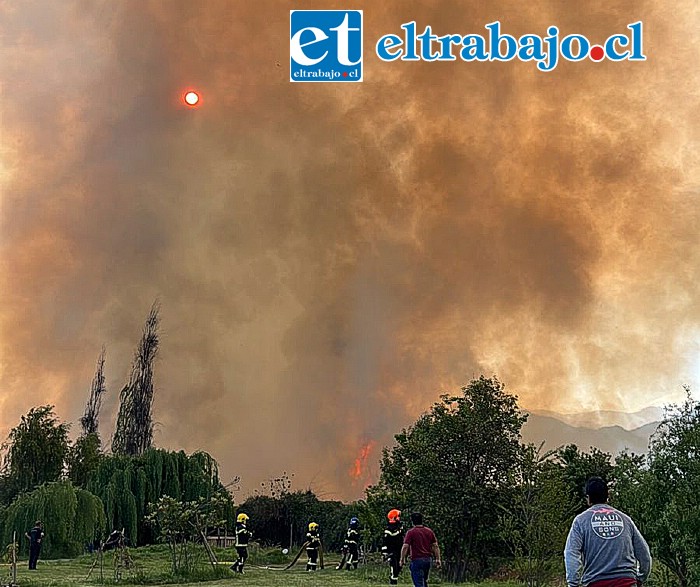
<instances>
[{"instance_id":1,"label":"green grass field the firefighters are standing on","mask_svg":"<svg viewBox=\"0 0 700 587\"><path fill-rule=\"evenodd\" d=\"M164 585L172 584L170 575L169 552L164 546L130 549L134 567L124 572L119 585ZM281 553L273 556L275 564L271 564L264 556L258 554L251 557L253 563L246 568L244 575L238 575L228 570L228 565L220 565L217 574L223 578L214 579L213 571L206 559L203 559L199 567L202 570L201 579L204 582L178 583L181 587L209 587L222 585L236 585L240 587L379 587L388 585L388 567L383 565L361 566L354 571L336 571L337 557L327 557L326 568L315 573L307 573L304 559L290 571L283 571L284 562ZM217 558L221 561L231 558L230 551L217 551ZM268 557L269 559L270 557ZM291 560L291 559L289 559ZM36 571L27 569L26 560L18 564L17 582L20 587L88 587L94 585L114 585L114 556L106 553L103 560L100 581L100 567L97 565L90 579L88 572L95 558L85 555L71 560L40 560ZM265 568L268 567L268 568ZM0 585L5 584L8 576L8 567L0 567ZM431 584L438 585L441 581L436 575ZM411 585L407 570L401 575L400 585ZM479 583L479 587L515 587L515 583ZM465 584L466 587L466 584Z\"/></svg>"}]
</instances>

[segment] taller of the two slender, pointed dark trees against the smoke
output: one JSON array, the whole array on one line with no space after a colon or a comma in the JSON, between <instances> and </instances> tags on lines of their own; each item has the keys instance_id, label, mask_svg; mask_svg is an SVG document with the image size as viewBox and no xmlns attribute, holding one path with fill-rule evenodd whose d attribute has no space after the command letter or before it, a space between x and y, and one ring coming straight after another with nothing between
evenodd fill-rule
<instances>
[{"instance_id":1,"label":"taller of the two slender, pointed dark trees against the smoke","mask_svg":"<svg viewBox=\"0 0 700 587\"><path fill-rule=\"evenodd\" d=\"M153 442L153 362L158 353L158 311L154 302L136 348L129 382L119 394L119 414L112 438L112 452L140 455Z\"/></svg>"}]
</instances>

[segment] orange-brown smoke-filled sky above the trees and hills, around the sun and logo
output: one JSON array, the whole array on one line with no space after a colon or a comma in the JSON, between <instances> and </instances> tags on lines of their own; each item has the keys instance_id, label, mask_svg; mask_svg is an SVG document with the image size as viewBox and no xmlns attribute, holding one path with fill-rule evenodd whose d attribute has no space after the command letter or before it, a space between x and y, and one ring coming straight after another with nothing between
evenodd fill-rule
<instances>
[{"instance_id":1,"label":"orange-brown smoke-filled sky above the trees and hills, around the sun and logo","mask_svg":"<svg viewBox=\"0 0 700 587\"><path fill-rule=\"evenodd\" d=\"M365 81L289 82L289 9L362 8ZM383 63L375 41L644 23L644 63ZM700 384L691 0L0 0L0 436L102 435L162 306L156 442L357 497L394 433L497 375L525 408ZM184 107L196 88L202 103ZM367 462L353 480L363 447ZM367 473L369 468L369 473Z\"/></svg>"}]
</instances>

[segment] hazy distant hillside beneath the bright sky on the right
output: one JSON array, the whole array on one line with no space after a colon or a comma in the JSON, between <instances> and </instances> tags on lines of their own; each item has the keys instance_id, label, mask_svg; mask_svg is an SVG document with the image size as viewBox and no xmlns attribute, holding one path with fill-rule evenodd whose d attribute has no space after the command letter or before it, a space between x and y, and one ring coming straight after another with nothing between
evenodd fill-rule
<instances>
[{"instance_id":1,"label":"hazy distant hillside beneath the bright sky on the right","mask_svg":"<svg viewBox=\"0 0 700 587\"><path fill-rule=\"evenodd\" d=\"M625 430L621 426L604 426L601 428L571 426L559 420L559 416L543 416L541 413L530 413L527 423L523 426L524 442L539 445L545 441L545 450L557 448L565 444L575 444L581 450L588 451L595 446L603 452L613 455L627 449L635 453L647 452L649 437L654 433L658 422L645 424L633 430Z\"/></svg>"}]
</instances>

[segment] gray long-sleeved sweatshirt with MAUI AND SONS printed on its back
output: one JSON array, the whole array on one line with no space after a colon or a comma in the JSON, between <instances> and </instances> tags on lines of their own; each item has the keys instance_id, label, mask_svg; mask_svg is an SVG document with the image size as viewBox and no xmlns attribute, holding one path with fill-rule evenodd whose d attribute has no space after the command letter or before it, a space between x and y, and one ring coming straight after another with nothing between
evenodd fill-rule
<instances>
[{"instance_id":1,"label":"gray long-sleeved sweatshirt with MAUI AND SONS printed on its back","mask_svg":"<svg viewBox=\"0 0 700 587\"><path fill-rule=\"evenodd\" d=\"M630 577L646 581L649 546L630 517L605 503L576 516L564 548L566 584Z\"/></svg>"}]
</instances>

